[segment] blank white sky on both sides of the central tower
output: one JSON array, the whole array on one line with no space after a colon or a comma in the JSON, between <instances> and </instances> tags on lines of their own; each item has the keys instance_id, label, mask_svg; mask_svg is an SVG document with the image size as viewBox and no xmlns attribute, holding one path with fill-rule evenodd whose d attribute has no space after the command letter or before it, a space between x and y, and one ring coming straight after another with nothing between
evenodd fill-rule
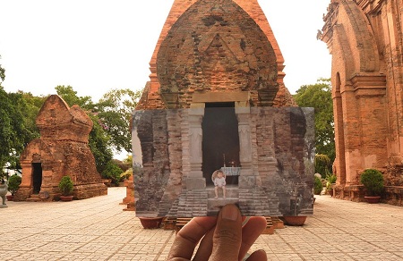
<instances>
[{"instance_id":1,"label":"blank white sky on both sides of the central tower","mask_svg":"<svg viewBox=\"0 0 403 261\"><path fill-rule=\"evenodd\" d=\"M0 64L7 92L55 94L70 85L94 102L112 88L144 87L174 0L0 0ZM292 94L330 77L316 39L330 0L259 0L285 59Z\"/></svg>"}]
</instances>

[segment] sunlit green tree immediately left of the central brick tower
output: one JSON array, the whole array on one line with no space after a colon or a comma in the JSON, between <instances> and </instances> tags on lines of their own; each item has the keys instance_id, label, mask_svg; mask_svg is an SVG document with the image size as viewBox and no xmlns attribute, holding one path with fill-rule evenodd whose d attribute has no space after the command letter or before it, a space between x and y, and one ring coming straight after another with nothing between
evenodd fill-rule
<instances>
[{"instance_id":1,"label":"sunlit green tree immediately left of the central brick tower","mask_svg":"<svg viewBox=\"0 0 403 261\"><path fill-rule=\"evenodd\" d=\"M124 88L112 89L99 100L99 119L118 152L132 151L130 119L140 97L141 91Z\"/></svg>"}]
</instances>

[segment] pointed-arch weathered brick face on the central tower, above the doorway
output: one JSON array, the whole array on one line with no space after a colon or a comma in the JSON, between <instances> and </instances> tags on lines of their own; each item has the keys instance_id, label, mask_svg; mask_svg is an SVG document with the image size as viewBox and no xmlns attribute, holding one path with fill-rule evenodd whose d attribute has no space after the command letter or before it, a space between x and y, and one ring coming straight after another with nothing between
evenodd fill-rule
<instances>
[{"instance_id":1,"label":"pointed-arch weathered brick face on the central tower, above the doorway","mask_svg":"<svg viewBox=\"0 0 403 261\"><path fill-rule=\"evenodd\" d=\"M193 4L169 30L157 63L159 91L170 107L189 107L195 91L234 90L249 91L253 104L272 105L279 88L268 38L232 1Z\"/></svg>"}]
</instances>

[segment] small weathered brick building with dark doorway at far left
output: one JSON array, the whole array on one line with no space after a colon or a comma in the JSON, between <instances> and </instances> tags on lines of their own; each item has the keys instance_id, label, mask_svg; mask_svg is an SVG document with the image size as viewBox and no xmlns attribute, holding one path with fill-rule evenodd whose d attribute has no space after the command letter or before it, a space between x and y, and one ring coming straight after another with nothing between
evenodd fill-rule
<instances>
[{"instance_id":1,"label":"small weathered brick building with dark doorway at far left","mask_svg":"<svg viewBox=\"0 0 403 261\"><path fill-rule=\"evenodd\" d=\"M40 138L32 140L21 155L22 181L16 200L33 194L52 200L60 195L58 184L64 175L73 180L75 198L106 195L107 187L88 145L90 117L78 105L70 108L61 97L52 95L42 105L36 123Z\"/></svg>"}]
</instances>

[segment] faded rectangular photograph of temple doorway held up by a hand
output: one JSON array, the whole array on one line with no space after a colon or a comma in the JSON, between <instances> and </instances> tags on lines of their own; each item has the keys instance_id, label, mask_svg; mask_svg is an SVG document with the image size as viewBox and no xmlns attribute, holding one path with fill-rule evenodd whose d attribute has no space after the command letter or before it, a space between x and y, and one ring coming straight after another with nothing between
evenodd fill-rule
<instances>
[{"instance_id":1,"label":"faded rectangular photograph of temple doorway held up by a hand","mask_svg":"<svg viewBox=\"0 0 403 261\"><path fill-rule=\"evenodd\" d=\"M313 108L206 103L136 110L134 198L139 217L313 215Z\"/></svg>"}]
</instances>

